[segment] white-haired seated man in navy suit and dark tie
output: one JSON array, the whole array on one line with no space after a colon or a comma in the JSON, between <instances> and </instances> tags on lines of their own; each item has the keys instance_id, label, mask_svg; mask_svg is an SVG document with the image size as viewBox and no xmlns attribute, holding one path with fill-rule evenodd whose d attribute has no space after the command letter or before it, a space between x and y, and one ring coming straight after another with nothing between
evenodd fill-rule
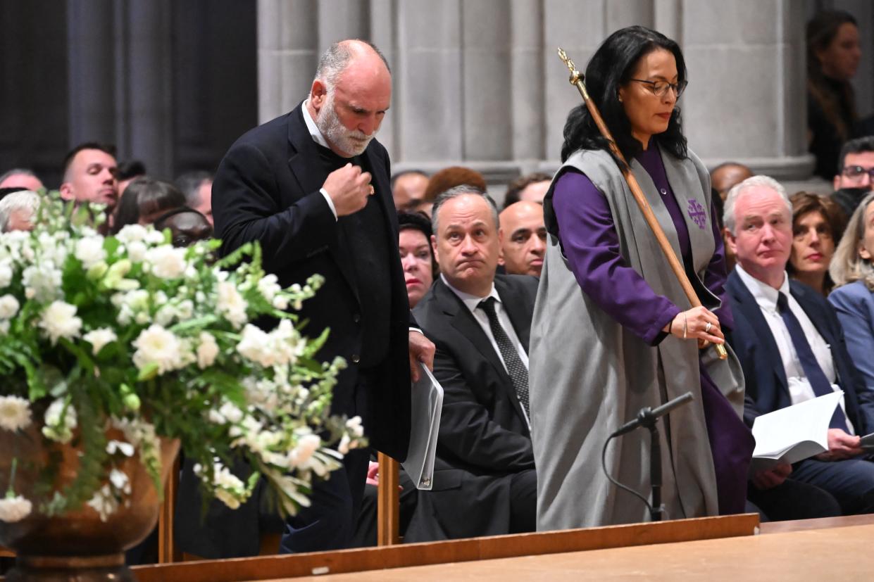
<instances>
[{"instance_id":1,"label":"white-haired seated man in navy suit and dark tie","mask_svg":"<svg viewBox=\"0 0 874 582\"><path fill-rule=\"evenodd\" d=\"M874 429L874 399L850 360L835 310L818 291L786 274L792 252L786 191L764 176L736 185L725 202L725 228L738 260L725 285L734 315L728 339L746 377L747 424L843 390L843 405L829 427L829 450L796 463L792 478L828 491L845 514L870 512L874 463L860 456L858 435Z\"/></svg>"}]
</instances>

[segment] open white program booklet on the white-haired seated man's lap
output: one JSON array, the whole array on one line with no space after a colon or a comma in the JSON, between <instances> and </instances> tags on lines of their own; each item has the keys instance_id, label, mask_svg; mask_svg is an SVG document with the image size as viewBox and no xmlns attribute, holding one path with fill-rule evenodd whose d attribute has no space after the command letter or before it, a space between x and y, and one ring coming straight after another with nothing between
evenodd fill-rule
<instances>
[{"instance_id":1,"label":"open white program booklet on the white-haired seated man's lap","mask_svg":"<svg viewBox=\"0 0 874 582\"><path fill-rule=\"evenodd\" d=\"M843 391L835 391L757 417L750 475L828 451L829 422L842 397Z\"/></svg>"}]
</instances>

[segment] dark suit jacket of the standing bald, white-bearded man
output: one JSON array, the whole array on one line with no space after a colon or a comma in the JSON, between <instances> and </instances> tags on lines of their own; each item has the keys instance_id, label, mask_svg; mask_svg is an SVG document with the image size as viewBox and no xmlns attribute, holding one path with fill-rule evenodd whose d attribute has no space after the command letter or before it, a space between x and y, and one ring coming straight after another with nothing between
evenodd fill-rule
<instances>
[{"instance_id":1,"label":"dark suit jacket of the standing bald, white-bearded man","mask_svg":"<svg viewBox=\"0 0 874 582\"><path fill-rule=\"evenodd\" d=\"M371 167L371 184L385 224L389 225L385 237L391 255L387 260L391 261L392 294L389 356L371 375L369 385L378 388L366 394L370 421L365 419L364 429L371 446L403 460L410 434L408 330L412 319L399 253L391 252L398 248L398 218L389 184L388 152L373 140L364 156ZM354 362L361 353L361 312L367 306L358 301L354 266L342 229L319 192L327 177L316 142L303 121L302 105L298 105L291 113L248 131L231 146L212 185L212 213L216 237L222 239L221 252L260 241L264 269L276 274L283 288L303 284L312 274L324 276L323 287L303 303L301 315L309 321L304 333L315 337L330 329L317 357L329 362L342 356L349 364L340 373L331 403L331 412L348 414L353 410L357 383ZM199 502L181 501L190 515L185 519L199 523ZM253 500L238 511L245 510L256 519L258 505ZM242 517L234 521L239 519ZM233 534L216 533L219 537ZM232 554L246 555L251 548L257 552L257 539L241 539L239 544ZM211 551L212 547L214 544L200 551ZM197 547L184 550L198 553ZM229 557L226 550L223 552L225 555L205 557Z\"/></svg>"}]
</instances>

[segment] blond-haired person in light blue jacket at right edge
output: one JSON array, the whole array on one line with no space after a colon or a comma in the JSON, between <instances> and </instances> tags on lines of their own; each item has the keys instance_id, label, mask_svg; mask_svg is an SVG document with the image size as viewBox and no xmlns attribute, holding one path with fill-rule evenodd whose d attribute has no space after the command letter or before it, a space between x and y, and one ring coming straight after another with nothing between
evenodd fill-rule
<instances>
[{"instance_id":1,"label":"blond-haired person in light blue jacket at right edge","mask_svg":"<svg viewBox=\"0 0 874 582\"><path fill-rule=\"evenodd\" d=\"M874 391L874 192L859 204L837 246L829 271L829 301L843 327L847 351Z\"/></svg>"}]
</instances>

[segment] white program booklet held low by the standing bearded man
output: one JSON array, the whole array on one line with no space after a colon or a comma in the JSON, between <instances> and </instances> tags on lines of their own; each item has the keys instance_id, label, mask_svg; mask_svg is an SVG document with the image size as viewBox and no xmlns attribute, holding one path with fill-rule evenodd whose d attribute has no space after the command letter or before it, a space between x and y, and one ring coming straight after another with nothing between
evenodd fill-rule
<instances>
[{"instance_id":1,"label":"white program booklet held low by the standing bearded man","mask_svg":"<svg viewBox=\"0 0 874 582\"><path fill-rule=\"evenodd\" d=\"M421 362L419 371L419 381L413 384L411 394L410 447L402 466L416 484L416 488L430 491L434 481L434 454L437 451L440 412L443 410L443 387Z\"/></svg>"}]
</instances>

